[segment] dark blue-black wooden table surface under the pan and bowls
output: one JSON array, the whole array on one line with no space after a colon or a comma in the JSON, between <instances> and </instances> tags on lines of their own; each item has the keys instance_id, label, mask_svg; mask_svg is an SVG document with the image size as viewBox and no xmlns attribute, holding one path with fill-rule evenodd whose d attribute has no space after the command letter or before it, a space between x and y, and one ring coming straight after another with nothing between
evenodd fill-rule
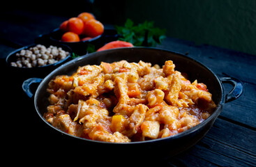
<instances>
[{"instance_id":1,"label":"dark blue-black wooden table surface under the pan and bowls","mask_svg":"<svg viewBox=\"0 0 256 167\"><path fill-rule=\"evenodd\" d=\"M12 76L6 70L5 63L5 58L11 51L32 44L38 35L49 33L66 19L66 17L22 10L6 12L6 17L0 20L0 24L4 25L0 26L0 60L3 77L11 78ZM218 77L235 77L243 81L244 85L241 97L225 104L213 127L201 141L186 152L161 159L158 164L163 166L256 166L256 56L209 45L197 46L193 42L175 38L166 38L158 47L185 54L209 67ZM2 88L8 88L8 81L8 79L1 79ZM6 120L5 124L9 127L4 128L8 134L7 140L15 139L15 142L10 144L11 147L6 154L8 156L13 154L21 156L24 150L31 154L42 152L38 147L40 143L37 142L38 138L44 138L45 132L40 132L43 121L37 116L33 102L20 91L21 83L17 81L15 93L8 90L7 94L11 95L7 95L8 98L3 103L9 106L8 111L2 108L4 111L2 119ZM226 93L230 88L225 84ZM17 101L23 105L15 105ZM31 129L31 125L35 129L39 128L39 131ZM33 137L27 138L27 136ZM54 143L54 138L52 140ZM49 148L46 147L43 150L50 151L52 147L49 145Z\"/></svg>"}]
</instances>

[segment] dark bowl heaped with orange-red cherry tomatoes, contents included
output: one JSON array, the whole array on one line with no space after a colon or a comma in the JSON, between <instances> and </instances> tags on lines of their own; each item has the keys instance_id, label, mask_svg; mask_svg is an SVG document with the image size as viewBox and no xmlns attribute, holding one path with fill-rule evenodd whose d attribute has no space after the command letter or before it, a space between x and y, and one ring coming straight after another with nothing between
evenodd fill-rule
<instances>
[{"instance_id":1,"label":"dark bowl heaped with orange-red cherry tomatoes, contents included","mask_svg":"<svg viewBox=\"0 0 256 167\"><path fill-rule=\"evenodd\" d=\"M88 53L89 47L96 50L117 38L115 29L105 29L91 13L80 13L77 17L62 22L59 28L51 33L40 35L36 41L68 45L73 53L82 56Z\"/></svg>"}]
</instances>

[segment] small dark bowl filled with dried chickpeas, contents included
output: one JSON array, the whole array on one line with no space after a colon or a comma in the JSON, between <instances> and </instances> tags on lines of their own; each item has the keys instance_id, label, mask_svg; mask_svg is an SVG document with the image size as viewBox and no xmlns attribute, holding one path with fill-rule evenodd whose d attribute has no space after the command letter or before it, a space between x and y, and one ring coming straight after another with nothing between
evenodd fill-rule
<instances>
[{"instance_id":1,"label":"small dark bowl filled with dried chickpeas, contents included","mask_svg":"<svg viewBox=\"0 0 256 167\"><path fill-rule=\"evenodd\" d=\"M6 63L14 74L44 77L71 60L72 50L66 45L33 44L11 52Z\"/></svg>"}]
</instances>

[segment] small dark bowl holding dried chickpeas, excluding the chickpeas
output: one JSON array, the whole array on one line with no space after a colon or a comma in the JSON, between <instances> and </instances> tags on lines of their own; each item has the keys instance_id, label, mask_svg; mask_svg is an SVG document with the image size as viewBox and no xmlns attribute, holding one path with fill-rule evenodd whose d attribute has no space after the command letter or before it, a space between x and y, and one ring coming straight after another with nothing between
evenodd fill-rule
<instances>
[{"instance_id":1,"label":"small dark bowl holding dried chickpeas, excluding the chickpeas","mask_svg":"<svg viewBox=\"0 0 256 167\"><path fill-rule=\"evenodd\" d=\"M59 67L60 65L72 59L71 58L72 50L70 49L70 47L66 45L52 44L52 43L48 43L48 44L40 43L40 44L45 45L45 47L50 47L50 45L61 47L64 51L68 51L70 54L66 58L58 61L57 63L52 63L49 65L43 65L40 67L30 67L30 68L29 67L13 67L10 65L10 63L15 62L17 60L17 56L16 56L17 53L19 53L22 49L29 49L31 47L35 47L38 44L27 45L26 47L16 49L15 51L8 54L8 56L6 57L6 64L7 64L8 70L10 74L13 74L13 76L15 76L16 79L24 81L24 79L27 79L29 77L45 77L47 76L47 74L55 70L57 67Z\"/></svg>"}]
</instances>

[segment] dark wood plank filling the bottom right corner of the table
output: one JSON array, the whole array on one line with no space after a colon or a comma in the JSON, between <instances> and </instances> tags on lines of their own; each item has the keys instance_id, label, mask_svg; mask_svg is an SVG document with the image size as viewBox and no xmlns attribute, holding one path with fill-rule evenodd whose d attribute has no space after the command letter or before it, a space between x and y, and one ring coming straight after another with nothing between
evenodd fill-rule
<instances>
[{"instance_id":1,"label":"dark wood plank filling the bottom right corner of the table","mask_svg":"<svg viewBox=\"0 0 256 167\"><path fill-rule=\"evenodd\" d=\"M197 145L176 155L186 166L208 161L217 166L256 166L256 132L220 118ZM193 155L193 161L191 161ZM195 159L194 159L195 158Z\"/></svg>"}]
</instances>

